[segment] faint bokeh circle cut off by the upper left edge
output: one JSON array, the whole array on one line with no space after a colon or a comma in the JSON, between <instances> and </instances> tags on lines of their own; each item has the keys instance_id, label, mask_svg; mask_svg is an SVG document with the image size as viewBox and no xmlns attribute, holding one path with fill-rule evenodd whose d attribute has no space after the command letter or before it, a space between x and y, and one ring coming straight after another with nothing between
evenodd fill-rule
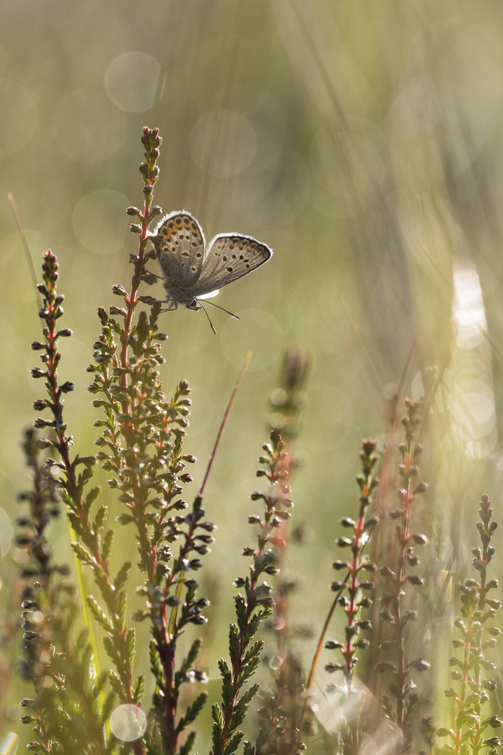
<instances>
[{"instance_id":1,"label":"faint bokeh circle cut off by the upper left edge","mask_svg":"<svg viewBox=\"0 0 503 755\"><path fill-rule=\"evenodd\" d=\"M0 79L0 155L24 149L35 133L37 106L19 84Z\"/></svg>"}]
</instances>

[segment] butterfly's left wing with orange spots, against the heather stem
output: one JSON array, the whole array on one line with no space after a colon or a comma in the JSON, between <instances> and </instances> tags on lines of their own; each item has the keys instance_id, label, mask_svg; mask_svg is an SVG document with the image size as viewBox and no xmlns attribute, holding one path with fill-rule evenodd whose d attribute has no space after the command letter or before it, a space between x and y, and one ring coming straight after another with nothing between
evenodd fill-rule
<instances>
[{"instance_id":1,"label":"butterfly's left wing with orange spots, against the heather stem","mask_svg":"<svg viewBox=\"0 0 503 755\"><path fill-rule=\"evenodd\" d=\"M195 217L185 210L170 212L159 221L152 239L164 274L164 288L185 303L201 275L204 233ZM192 294L192 299L194 298Z\"/></svg>"}]
</instances>

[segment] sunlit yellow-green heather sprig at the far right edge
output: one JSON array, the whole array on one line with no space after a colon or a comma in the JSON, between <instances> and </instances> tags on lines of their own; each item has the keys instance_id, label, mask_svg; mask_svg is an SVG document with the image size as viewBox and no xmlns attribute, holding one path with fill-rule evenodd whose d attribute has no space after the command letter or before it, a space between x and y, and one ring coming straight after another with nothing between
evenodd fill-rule
<instances>
[{"instance_id":1,"label":"sunlit yellow-green heather sprig at the far right edge","mask_svg":"<svg viewBox=\"0 0 503 755\"><path fill-rule=\"evenodd\" d=\"M457 689L446 689L446 697L455 701L455 724L450 729L437 729L437 736L446 737L448 741L440 748L443 753L478 755L484 750L488 755L495 755L501 742L491 735L491 729L503 726L500 716L483 716L482 707L495 692L497 682L486 677L483 671L495 672L496 664L486 658L486 650L496 644L496 637L501 629L495 627L493 620L496 611L501 608L501 601L489 598L489 590L498 587L498 580L487 578L487 567L495 553L490 544L497 523L492 521L492 506L488 495L483 495L479 504L480 521L477 529L482 548L474 547L472 565L478 578L469 578L460 586L461 618L455 619L455 627L460 638L453 639L455 649L462 651L461 658L453 655L449 658L452 667L451 678L458 683ZM487 731L489 729L489 731ZM489 734L489 736L487 736Z\"/></svg>"}]
</instances>

